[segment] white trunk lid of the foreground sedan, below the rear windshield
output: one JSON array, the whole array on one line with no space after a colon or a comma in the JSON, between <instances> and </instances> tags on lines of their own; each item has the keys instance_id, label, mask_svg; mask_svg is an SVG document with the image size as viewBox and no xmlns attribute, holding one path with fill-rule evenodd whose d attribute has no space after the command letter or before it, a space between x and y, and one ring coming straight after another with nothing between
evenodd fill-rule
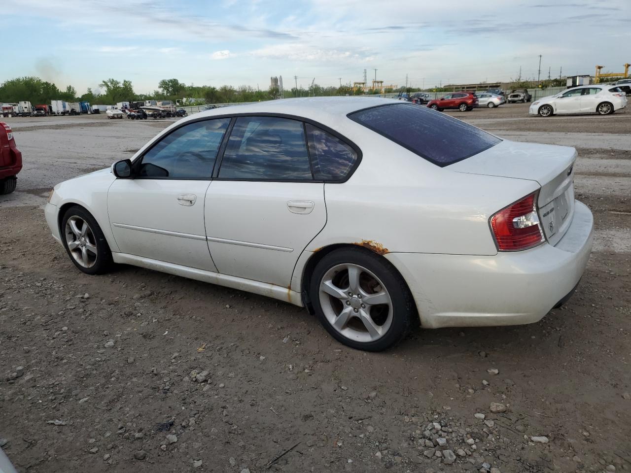
<instances>
[{"instance_id":1,"label":"white trunk lid of the foreground sedan, below the rear windshield","mask_svg":"<svg viewBox=\"0 0 631 473\"><path fill-rule=\"evenodd\" d=\"M574 216L576 156L576 150L567 146L504 140L478 155L450 165L449 169L536 181L541 185L537 201L541 228L548 242L556 245Z\"/></svg>"}]
</instances>

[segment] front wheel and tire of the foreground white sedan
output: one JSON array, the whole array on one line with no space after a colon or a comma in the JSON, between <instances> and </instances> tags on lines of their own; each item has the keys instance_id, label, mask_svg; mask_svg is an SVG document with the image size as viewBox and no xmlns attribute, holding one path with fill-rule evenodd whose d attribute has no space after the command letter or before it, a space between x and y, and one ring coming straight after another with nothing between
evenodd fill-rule
<instances>
[{"instance_id":1,"label":"front wheel and tire of the foreground white sedan","mask_svg":"<svg viewBox=\"0 0 631 473\"><path fill-rule=\"evenodd\" d=\"M60 233L70 260L80 271L86 274L103 274L109 271L112 266L112 252L101 227L86 209L80 206L70 207L61 219ZM73 245L72 249L70 245Z\"/></svg>"}]
</instances>

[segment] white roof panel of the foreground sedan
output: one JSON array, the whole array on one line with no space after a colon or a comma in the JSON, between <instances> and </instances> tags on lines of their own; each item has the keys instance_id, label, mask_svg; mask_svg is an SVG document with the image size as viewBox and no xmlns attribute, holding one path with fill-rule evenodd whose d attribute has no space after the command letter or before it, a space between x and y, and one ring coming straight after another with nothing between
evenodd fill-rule
<instances>
[{"instance_id":1,"label":"white roof panel of the foreground sedan","mask_svg":"<svg viewBox=\"0 0 631 473\"><path fill-rule=\"evenodd\" d=\"M215 115L232 114L285 114L307 117L314 120L322 120L331 117L340 117L363 108L377 107L388 103L401 104L400 100L379 97L304 97L284 98L280 100L267 100L265 102L244 103L243 105L230 105L229 107L213 108L191 115L196 119L213 117Z\"/></svg>"}]
</instances>

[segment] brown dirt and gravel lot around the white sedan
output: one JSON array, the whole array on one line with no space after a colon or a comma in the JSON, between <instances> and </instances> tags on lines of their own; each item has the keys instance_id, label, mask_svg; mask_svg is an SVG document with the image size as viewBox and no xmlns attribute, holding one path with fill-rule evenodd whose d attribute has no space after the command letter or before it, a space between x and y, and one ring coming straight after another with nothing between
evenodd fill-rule
<instances>
[{"instance_id":1,"label":"brown dirt and gravel lot around the white sedan","mask_svg":"<svg viewBox=\"0 0 631 473\"><path fill-rule=\"evenodd\" d=\"M19 472L631 470L631 112L540 119L527 105L449 114L579 149L596 242L577 293L537 324L419 329L379 354L261 296L77 271L45 225L48 190L165 123L9 120L25 168L0 197L0 446Z\"/></svg>"}]
</instances>

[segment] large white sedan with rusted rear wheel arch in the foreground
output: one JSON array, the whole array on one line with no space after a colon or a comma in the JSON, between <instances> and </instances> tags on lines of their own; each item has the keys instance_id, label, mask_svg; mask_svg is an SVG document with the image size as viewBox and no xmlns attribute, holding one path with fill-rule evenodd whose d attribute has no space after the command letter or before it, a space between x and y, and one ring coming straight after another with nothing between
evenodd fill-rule
<instances>
[{"instance_id":1,"label":"large white sedan with rusted rear wheel arch in the foreground","mask_svg":"<svg viewBox=\"0 0 631 473\"><path fill-rule=\"evenodd\" d=\"M125 263L270 296L377 351L415 317L528 324L563 303L592 245L575 159L399 100L273 100L179 120L57 184L45 216L87 274Z\"/></svg>"}]
</instances>

